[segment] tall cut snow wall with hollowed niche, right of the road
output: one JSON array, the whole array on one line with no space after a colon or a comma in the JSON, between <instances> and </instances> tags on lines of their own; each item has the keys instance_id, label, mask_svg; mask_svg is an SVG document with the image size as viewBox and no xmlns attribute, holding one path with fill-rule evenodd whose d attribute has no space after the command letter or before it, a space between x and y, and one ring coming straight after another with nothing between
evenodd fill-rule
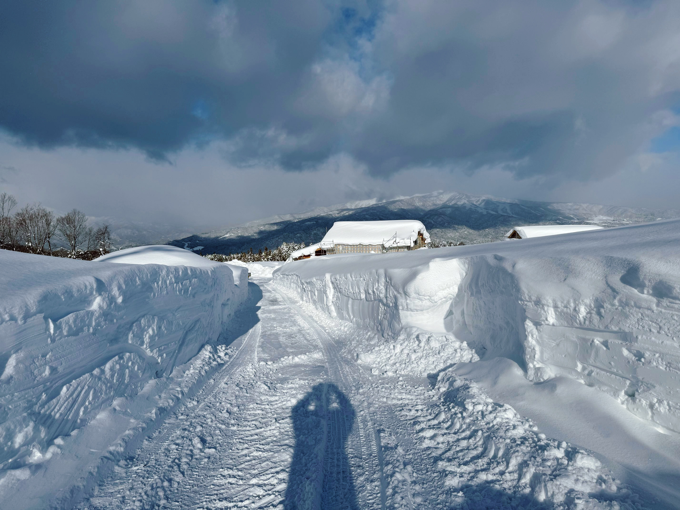
<instances>
[{"instance_id":1,"label":"tall cut snow wall with hollowed niche, right of the road","mask_svg":"<svg viewBox=\"0 0 680 510\"><path fill-rule=\"evenodd\" d=\"M273 277L329 316L378 333L352 354L382 371L426 375L503 356L530 381L577 379L680 432L680 220L316 257Z\"/></svg>"}]
</instances>

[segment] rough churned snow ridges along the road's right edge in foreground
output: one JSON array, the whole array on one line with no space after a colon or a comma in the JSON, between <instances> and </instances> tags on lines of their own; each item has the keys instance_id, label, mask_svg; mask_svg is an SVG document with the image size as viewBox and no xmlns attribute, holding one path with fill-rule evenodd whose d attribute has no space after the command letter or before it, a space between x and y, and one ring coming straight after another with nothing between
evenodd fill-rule
<instances>
[{"instance_id":1,"label":"rough churned snow ridges along the road's right edge in foreground","mask_svg":"<svg viewBox=\"0 0 680 510\"><path fill-rule=\"evenodd\" d=\"M430 415L418 415L414 426L422 437L420 446L435 454L435 476L454 505L640 508L638 498L608 475L599 460L534 432L537 427L530 420L509 405L494 403L475 383L444 371L435 392L441 400L420 410Z\"/></svg>"}]
</instances>

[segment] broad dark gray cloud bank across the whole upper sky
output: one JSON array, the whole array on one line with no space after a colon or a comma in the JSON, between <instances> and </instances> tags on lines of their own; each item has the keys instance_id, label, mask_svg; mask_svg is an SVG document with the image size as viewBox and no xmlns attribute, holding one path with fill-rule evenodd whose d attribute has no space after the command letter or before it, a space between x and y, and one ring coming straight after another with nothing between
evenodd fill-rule
<instances>
[{"instance_id":1,"label":"broad dark gray cloud bank across the whole upper sky","mask_svg":"<svg viewBox=\"0 0 680 510\"><path fill-rule=\"evenodd\" d=\"M0 126L158 160L220 139L237 165L588 180L678 124L679 20L670 0L7 0Z\"/></svg>"}]
</instances>

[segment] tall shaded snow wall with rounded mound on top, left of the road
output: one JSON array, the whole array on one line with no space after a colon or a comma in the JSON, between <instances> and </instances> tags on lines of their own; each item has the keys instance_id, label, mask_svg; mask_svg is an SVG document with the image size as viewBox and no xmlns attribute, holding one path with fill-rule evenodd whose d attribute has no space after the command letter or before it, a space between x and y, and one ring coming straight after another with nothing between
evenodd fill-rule
<instances>
[{"instance_id":1,"label":"tall shaded snow wall with rounded mound on top, left of the road","mask_svg":"<svg viewBox=\"0 0 680 510\"><path fill-rule=\"evenodd\" d=\"M206 344L248 292L243 269L179 248L132 248L99 260L0 250L5 502L91 483L113 452L188 391L187 381L200 379L196 363L206 369L224 357ZM38 473L40 483L32 481Z\"/></svg>"}]
</instances>

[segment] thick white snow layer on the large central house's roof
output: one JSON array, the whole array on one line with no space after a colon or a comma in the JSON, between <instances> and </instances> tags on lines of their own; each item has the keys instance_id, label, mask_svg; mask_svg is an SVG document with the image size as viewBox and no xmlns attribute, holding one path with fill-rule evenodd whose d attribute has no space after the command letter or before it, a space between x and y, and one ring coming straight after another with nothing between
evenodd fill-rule
<instances>
[{"instance_id":1,"label":"thick white snow layer on the large central house's roof","mask_svg":"<svg viewBox=\"0 0 680 510\"><path fill-rule=\"evenodd\" d=\"M384 244L413 246L422 233L430 241L424 224L418 220L388 220L369 222L335 222L321 243L333 244Z\"/></svg>"}]
</instances>

